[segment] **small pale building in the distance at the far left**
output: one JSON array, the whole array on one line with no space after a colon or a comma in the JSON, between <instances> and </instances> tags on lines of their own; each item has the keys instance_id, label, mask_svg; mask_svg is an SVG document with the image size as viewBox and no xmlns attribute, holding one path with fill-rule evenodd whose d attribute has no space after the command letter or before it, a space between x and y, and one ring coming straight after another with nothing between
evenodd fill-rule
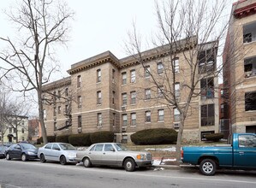
<instances>
[{"instance_id":1,"label":"small pale building in the distance at the far left","mask_svg":"<svg viewBox=\"0 0 256 188\"><path fill-rule=\"evenodd\" d=\"M28 139L28 117L9 116L9 124L4 126L3 143L18 143Z\"/></svg>"}]
</instances>

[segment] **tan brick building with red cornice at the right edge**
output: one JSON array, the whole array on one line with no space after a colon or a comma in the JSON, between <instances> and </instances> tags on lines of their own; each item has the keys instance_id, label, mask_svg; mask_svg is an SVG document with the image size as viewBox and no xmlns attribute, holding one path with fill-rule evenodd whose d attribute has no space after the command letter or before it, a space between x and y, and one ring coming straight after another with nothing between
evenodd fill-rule
<instances>
[{"instance_id":1,"label":"tan brick building with red cornice at the right edge","mask_svg":"<svg viewBox=\"0 0 256 188\"><path fill-rule=\"evenodd\" d=\"M256 132L256 1L233 3L223 51L224 118L231 132Z\"/></svg>"}]
</instances>

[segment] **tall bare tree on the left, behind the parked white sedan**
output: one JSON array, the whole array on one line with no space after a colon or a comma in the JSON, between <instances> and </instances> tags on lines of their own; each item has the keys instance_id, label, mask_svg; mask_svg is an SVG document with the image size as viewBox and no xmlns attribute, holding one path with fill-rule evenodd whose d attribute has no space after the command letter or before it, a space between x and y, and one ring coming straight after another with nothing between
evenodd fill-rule
<instances>
[{"instance_id":1,"label":"tall bare tree on the left, behind the parked white sedan","mask_svg":"<svg viewBox=\"0 0 256 188\"><path fill-rule=\"evenodd\" d=\"M14 91L36 91L39 105L39 120L44 143L47 143L43 118L42 85L47 83L51 74L58 70L54 51L57 44L67 42L70 28L68 21L74 13L63 1L22 0L16 9L7 13L10 21L17 26L19 36L15 39L0 39L7 47L0 53L5 62L1 79L12 80Z\"/></svg>"}]
</instances>

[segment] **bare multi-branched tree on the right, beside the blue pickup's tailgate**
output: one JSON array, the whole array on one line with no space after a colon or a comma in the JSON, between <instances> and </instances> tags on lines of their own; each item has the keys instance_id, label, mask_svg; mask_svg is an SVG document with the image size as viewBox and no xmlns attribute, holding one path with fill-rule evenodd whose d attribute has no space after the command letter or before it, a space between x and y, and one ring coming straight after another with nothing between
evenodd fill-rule
<instances>
[{"instance_id":1,"label":"bare multi-branched tree on the right, beside the blue pickup's tailgate","mask_svg":"<svg viewBox=\"0 0 256 188\"><path fill-rule=\"evenodd\" d=\"M185 120L194 110L193 99L205 95L206 87L211 89L212 99L214 91L217 91L217 83L209 78L217 78L222 71L222 66L217 64L218 56L222 56L221 53L217 53L217 47L223 43L228 26L228 19L224 21L228 16L223 15L226 5L226 1L210 3L199 0L175 0L165 1L163 4L156 2L159 31L156 38L152 39L152 44L156 48L150 53L155 53L158 61L161 60L162 64L157 71L147 71L147 51L141 50L143 41L136 31L135 24L134 31L128 33L128 54L134 56L135 61L150 74L152 90L161 93L161 100L158 102L164 103L170 109L176 108L180 114L176 143L177 161L181 159ZM179 68L176 58L181 55Z\"/></svg>"}]
</instances>

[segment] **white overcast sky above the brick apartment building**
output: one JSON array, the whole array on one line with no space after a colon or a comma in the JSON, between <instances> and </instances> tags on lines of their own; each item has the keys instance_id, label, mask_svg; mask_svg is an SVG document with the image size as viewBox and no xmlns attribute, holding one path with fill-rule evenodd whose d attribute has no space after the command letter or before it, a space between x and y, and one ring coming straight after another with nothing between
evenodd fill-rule
<instances>
[{"instance_id":1,"label":"white overcast sky above the brick apartment building","mask_svg":"<svg viewBox=\"0 0 256 188\"><path fill-rule=\"evenodd\" d=\"M10 36L15 30L3 14L3 9L8 9L15 1L1 1L1 37ZM59 48L57 51L62 74L56 75L54 79L68 76L66 71L71 64L106 50L110 50L117 58L127 56L124 40L128 38L128 30L131 29L133 21L136 21L138 30L147 38L151 38L152 33L156 32L154 0L67 0L66 2L74 10L75 16L71 23L72 32L69 33L68 48ZM230 9L227 15L229 13Z\"/></svg>"}]
</instances>

